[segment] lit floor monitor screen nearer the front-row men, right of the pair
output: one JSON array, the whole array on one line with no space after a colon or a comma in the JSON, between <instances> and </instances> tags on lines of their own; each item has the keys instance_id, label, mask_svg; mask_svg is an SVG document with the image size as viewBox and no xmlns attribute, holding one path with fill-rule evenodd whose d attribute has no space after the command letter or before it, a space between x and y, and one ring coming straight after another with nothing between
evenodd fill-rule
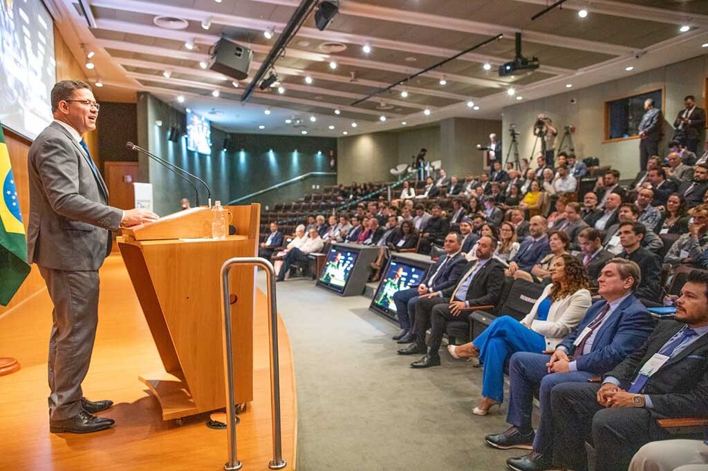
<instances>
[{"instance_id":1,"label":"lit floor monitor screen nearer the front-row men, right of the pair","mask_svg":"<svg viewBox=\"0 0 708 471\"><path fill-rule=\"evenodd\" d=\"M429 264L422 262L416 263L405 258L392 257L376 290L371 307L385 314L395 315L394 294L421 284L426 277L428 267Z\"/></svg>"}]
</instances>

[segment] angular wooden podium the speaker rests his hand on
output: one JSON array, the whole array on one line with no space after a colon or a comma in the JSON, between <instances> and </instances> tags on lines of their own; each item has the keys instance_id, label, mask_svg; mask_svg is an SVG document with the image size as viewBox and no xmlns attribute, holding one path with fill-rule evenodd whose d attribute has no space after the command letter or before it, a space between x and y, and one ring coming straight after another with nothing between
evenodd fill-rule
<instances>
[{"instance_id":1,"label":"angular wooden podium the speaker rests his hand on","mask_svg":"<svg viewBox=\"0 0 708 471\"><path fill-rule=\"evenodd\" d=\"M256 257L260 204L224 207L236 236L212 239L211 210L193 208L122 230L118 247L164 371L139 376L162 407L181 419L226 406L220 269ZM236 402L253 400L254 267L231 270Z\"/></svg>"}]
</instances>

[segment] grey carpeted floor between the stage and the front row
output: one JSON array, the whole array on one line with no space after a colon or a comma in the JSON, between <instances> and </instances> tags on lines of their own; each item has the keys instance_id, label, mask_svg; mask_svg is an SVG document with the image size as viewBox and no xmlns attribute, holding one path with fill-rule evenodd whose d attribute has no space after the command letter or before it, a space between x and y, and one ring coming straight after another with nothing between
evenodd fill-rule
<instances>
[{"instance_id":1,"label":"grey carpeted floor between the stage and the front row","mask_svg":"<svg viewBox=\"0 0 708 471\"><path fill-rule=\"evenodd\" d=\"M506 429L506 405L470 414L480 368L441 351L442 366L413 370L418 356L396 354L398 327L369 303L314 281L278 283L295 359L298 470L505 470L506 458L527 453L484 443Z\"/></svg>"}]
</instances>

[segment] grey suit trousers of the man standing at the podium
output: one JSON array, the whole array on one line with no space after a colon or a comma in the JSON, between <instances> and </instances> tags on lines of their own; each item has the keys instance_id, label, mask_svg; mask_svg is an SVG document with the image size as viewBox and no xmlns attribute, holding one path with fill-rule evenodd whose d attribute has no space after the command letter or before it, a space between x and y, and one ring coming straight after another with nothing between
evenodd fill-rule
<instances>
[{"instance_id":1,"label":"grey suit trousers of the man standing at the podium","mask_svg":"<svg viewBox=\"0 0 708 471\"><path fill-rule=\"evenodd\" d=\"M98 325L98 272L69 272L40 267L52 298L48 379L51 420L83 410L81 383L91 364Z\"/></svg>"}]
</instances>

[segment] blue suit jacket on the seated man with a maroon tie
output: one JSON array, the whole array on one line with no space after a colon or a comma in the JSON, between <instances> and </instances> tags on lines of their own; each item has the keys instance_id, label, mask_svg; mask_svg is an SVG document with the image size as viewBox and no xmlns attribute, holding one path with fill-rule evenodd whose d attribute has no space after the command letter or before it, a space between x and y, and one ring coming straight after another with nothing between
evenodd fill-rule
<instances>
[{"instance_id":1,"label":"blue suit jacket on the seated man with a maroon tie","mask_svg":"<svg viewBox=\"0 0 708 471\"><path fill-rule=\"evenodd\" d=\"M590 306L578 328L563 339L560 346L574 353L578 335L603 310L607 301L600 299ZM601 375L607 373L629 354L641 347L654 329L654 322L644 304L634 294L629 295L605 321L595 335L590 353L578 356L578 371Z\"/></svg>"}]
</instances>

